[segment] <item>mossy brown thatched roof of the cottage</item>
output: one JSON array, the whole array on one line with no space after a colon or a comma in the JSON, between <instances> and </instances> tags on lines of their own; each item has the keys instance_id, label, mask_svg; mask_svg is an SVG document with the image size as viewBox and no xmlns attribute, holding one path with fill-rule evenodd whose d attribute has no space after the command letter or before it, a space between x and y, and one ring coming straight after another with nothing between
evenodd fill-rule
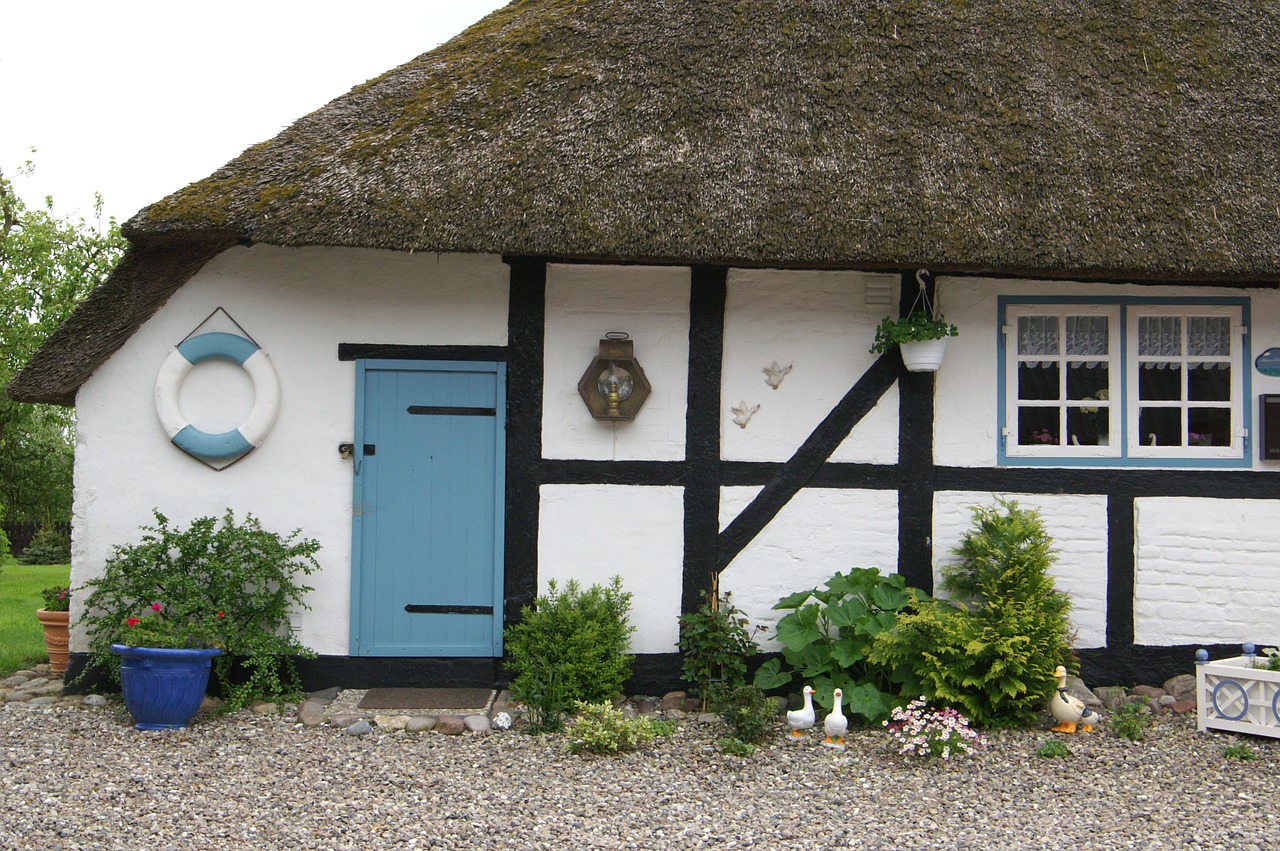
<instances>
[{"instance_id":1,"label":"mossy brown thatched roof of the cottage","mask_svg":"<svg viewBox=\"0 0 1280 851\"><path fill-rule=\"evenodd\" d=\"M125 232L1274 283L1277 201L1280 0L517 0Z\"/></svg>"}]
</instances>

